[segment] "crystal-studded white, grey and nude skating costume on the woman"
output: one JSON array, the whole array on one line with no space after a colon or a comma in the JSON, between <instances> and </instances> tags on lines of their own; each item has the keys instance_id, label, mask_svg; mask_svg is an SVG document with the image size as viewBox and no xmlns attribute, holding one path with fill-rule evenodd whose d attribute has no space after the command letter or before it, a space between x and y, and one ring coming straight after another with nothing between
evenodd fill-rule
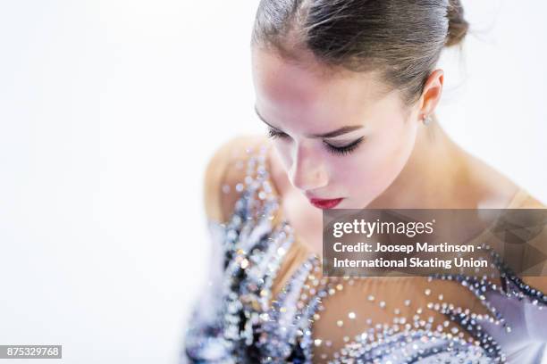
<instances>
[{"instance_id":1,"label":"crystal-studded white, grey and nude skating costume on the woman","mask_svg":"<svg viewBox=\"0 0 547 364\"><path fill-rule=\"evenodd\" d=\"M501 265L501 284L323 277L319 257L282 216L269 145L248 140L225 145L209 166L215 182L206 193L224 201L226 219L208 219L210 285L192 311L181 362L541 362L547 295ZM544 208L531 201L521 190L508 207ZM547 244L547 232L542 238ZM534 286L544 290L546 280Z\"/></svg>"}]
</instances>

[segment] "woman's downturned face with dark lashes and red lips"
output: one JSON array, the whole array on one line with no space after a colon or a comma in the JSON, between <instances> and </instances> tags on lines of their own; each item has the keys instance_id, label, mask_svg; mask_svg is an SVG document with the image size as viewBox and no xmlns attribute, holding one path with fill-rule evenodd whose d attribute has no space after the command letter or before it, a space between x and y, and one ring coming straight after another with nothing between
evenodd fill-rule
<instances>
[{"instance_id":1,"label":"woman's downturned face with dark lashes and red lips","mask_svg":"<svg viewBox=\"0 0 547 364\"><path fill-rule=\"evenodd\" d=\"M419 125L398 92L383 92L372 73L303 67L256 46L252 62L257 113L302 194L359 209L391 185Z\"/></svg>"}]
</instances>

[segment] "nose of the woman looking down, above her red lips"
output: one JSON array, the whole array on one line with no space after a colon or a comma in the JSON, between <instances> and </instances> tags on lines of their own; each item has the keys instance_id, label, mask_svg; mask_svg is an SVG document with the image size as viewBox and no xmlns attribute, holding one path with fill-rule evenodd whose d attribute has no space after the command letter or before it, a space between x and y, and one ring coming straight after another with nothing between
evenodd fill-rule
<instances>
[{"instance_id":1,"label":"nose of the woman looking down, above her red lips","mask_svg":"<svg viewBox=\"0 0 547 364\"><path fill-rule=\"evenodd\" d=\"M293 152L290 167L290 183L301 191L310 191L326 186L328 176L326 170L312 147L298 145Z\"/></svg>"}]
</instances>

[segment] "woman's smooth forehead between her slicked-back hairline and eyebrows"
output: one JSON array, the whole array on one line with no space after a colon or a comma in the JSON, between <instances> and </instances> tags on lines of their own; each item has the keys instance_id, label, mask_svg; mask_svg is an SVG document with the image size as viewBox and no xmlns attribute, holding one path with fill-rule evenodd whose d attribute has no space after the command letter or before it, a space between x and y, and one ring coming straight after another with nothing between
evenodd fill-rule
<instances>
[{"instance_id":1,"label":"woman's smooth forehead between her slicked-back hairline and eyebrows","mask_svg":"<svg viewBox=\"0 0 547 364\"><path fill-rule=\"evenodd\" d=\"M275 120L347 120L372 111L389 91L373 72L334 71L309 54L294 61L253 47L252 63L257 109Z\"/></svg>"}]
</instances>

